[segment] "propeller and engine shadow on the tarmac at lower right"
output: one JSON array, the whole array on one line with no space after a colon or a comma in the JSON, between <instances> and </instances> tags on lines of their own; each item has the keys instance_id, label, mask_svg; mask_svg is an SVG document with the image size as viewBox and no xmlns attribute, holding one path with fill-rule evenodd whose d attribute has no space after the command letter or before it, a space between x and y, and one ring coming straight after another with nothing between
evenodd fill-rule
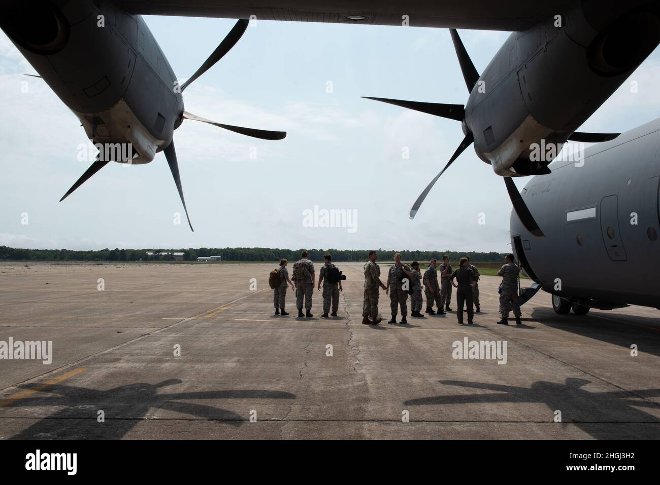
<instances>
[{"instance_id":1,"label":"propeller and engine shadow on the tarmac at lower right","mask_svg":"<svg viewBox=\"0 0 660 485\"><path fill-rule=\"evenodd\" d=\"M660 438L660 418L638 409L641 407L660 411L659 404L644 399L660 397L660 389L591 392L583 389L583 386L591 384L591 381L579 378L566 378L564 384L538 381L529 388L486 382L451 380L438 382L464 389L482 389L491 392L420 397L405 401L404 405L474 404L478 405L475 408L476 412L482 409L484 403L490 403L494 407L510 403L544 403L549 409L548 422L554 422L554 411L561 411L563 424L574 424L598 440ZM446 415L447 411L443 411L443 413ZM504 420L514 421L516 416L504 415L502 417ZM623 426L616 427L616 423L622 423ZM654 426L645 426L644 436L640 436L640 428L630 426L634 423L652 423Z\"/></svg>"}]
</instances>

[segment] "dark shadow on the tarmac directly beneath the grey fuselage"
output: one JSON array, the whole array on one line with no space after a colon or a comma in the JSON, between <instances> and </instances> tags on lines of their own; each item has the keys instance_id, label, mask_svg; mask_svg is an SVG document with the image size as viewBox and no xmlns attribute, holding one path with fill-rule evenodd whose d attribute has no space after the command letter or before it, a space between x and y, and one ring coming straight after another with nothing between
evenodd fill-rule
<instances>
[{"instance_id":1,"label":"dark shadow on the tarmac directly beneath the grey fuselage","mask_svg":"<svg viewBox=\"0 0 660 485\"><path fill-rule=\"evenodd\" d=\"M660 356L660 332L652 331L660 329L657 326L660 318L602 312L558 315L552 308L544 307L533 308L532 318L548 327L619 345L628 350L635 343L640 351Z\"/></svg>"}]
</instances>

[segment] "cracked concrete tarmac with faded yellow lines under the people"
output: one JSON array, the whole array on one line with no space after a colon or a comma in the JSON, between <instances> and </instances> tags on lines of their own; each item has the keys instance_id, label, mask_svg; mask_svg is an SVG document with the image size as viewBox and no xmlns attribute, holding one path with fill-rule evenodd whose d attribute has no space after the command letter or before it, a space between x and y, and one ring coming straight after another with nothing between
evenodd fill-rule
<instances>
[{"instance_id":1,"label":"cracked concrete tarmac with faded yellow lines under the people","mask_svg":"<svg viewBox=\"0 0 660 485\"><path fill-rule=\"evenodd\" d=\"M316 290L313 318L290 289L274 316L270 264L0 263L0 346L53 349L0 360L0 439L660 438L658 310L560 316L541 292L504 327L484 276L473 326L389 325L384 291L366 326L362 264L337 266L325 319ZM465 338L506 363L455 358Z\"/></svg>"}]
</instances>

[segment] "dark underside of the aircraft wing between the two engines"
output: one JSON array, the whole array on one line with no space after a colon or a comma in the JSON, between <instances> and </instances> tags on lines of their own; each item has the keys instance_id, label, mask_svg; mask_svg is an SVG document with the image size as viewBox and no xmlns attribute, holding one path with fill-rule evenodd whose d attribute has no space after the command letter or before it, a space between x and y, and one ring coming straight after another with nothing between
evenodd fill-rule
<instances>
[{"instance_id":1,"label":"dark underside of the aircraft wing between the two engines","mask_svg":"<svg viewBox=\"0 0 660 485\"><path fill-rule=\"evenodd\" d=\"M133 14L345 24L526 30L568 0L116 0ZM364 17L351 20L350 16Z\"/></svg>"}]
</instances>

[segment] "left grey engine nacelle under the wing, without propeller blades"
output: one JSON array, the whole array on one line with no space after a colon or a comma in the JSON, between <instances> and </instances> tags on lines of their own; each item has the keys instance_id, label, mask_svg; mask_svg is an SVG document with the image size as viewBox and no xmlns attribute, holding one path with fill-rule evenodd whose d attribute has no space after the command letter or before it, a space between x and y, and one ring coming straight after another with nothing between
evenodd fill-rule
<instances>
[{"instance_id":1,"label":"left grey engine nacelle under the wing, without propeller blades","mask_svg":"<svg viewBox=\"0 0 660 485\"><path fill-rule=\"evenodd\" d=\"M148 163L168 146L183 98L140 16L112 0L27 0L3 10L0 25L94 144L129 145L121 154L137 154L131 163Z\"/></svg>"}]
</instances>

